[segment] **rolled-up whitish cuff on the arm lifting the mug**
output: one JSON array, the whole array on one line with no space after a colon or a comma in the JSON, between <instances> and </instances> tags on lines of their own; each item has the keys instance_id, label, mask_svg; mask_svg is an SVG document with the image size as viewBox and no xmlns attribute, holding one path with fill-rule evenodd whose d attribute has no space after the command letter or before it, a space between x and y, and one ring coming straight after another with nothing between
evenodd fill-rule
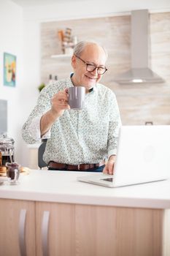
<instances>
[{"instance_id":1,"label":"rolled-up whitish cuff on the arm lifting the mug","mask_svg":"<svg viewBox=\"0 0 170 256\"><path fill-rule=\"evenodd\" d=\"M41 137L41 131L40 131L40 120L42 116L37 116L31 121L31 124L29 126L29 133L34 140L40 140L40 139L48 139L51 135L51 130L49 129L42 137Z\"/></svg>"}]
</instances>

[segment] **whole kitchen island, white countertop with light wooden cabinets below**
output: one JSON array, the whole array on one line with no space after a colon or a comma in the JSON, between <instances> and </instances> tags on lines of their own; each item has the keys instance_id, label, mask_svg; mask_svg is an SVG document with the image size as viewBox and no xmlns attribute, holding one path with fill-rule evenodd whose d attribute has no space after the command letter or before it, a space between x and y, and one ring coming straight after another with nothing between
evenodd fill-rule
<instances>
[{"instance_id":1,"label":"whole kitchen island, white countertop with light wooden cabinets below","mask_svg":"<svg viewBox=\"0 0 170 256\"><path fill-rule=\"evenodd\" d=\"M1 185L0 255L170 255L170 180L108 189L81 175L31 170Z\"/></svg>"}]
</instances>

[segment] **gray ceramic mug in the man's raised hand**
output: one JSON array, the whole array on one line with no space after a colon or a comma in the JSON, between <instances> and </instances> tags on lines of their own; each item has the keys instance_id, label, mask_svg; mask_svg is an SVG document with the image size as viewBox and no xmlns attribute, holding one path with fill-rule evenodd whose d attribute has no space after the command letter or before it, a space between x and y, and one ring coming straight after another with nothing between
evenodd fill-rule
<instances>
[{"instance_id":1,"label":"gray ceramic mug in the man's raised hand","mask_svg":"<svg viewBox=\"0 0 170 256\"><path fill-rule=\"evenodd\" d=\"M74 86L69 87L69 106L72 109L84 108L85 102L85 87Z\"/></svg>"}]
</instances>

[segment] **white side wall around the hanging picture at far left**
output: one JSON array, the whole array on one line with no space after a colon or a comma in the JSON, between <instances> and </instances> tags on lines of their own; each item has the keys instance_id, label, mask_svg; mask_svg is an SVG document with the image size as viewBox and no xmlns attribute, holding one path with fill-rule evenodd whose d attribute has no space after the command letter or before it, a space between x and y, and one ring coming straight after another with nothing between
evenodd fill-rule
<instances>
[{"instance_id":1,"label":"white side wall around the hanging picture at far left","mask_svg":"<svg viewBox=\"0 0 170 256\"><path fill-rule=\"evenodd\" d=\"M17 56L16 86L4 86L4 52ZM0 99L8 105L8 136L15 140L15 159L20 162L20 125L22 105L20 89L23 87L23 10L11 1L0 1Z\"/></svg>"}]
</instances>

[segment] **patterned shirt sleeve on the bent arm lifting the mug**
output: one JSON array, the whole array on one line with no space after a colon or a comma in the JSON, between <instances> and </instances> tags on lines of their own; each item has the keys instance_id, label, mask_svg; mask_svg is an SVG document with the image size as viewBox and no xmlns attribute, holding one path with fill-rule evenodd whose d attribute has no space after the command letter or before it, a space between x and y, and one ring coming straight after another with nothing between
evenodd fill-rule
<instances>
[{"instance_id":1,"label":"patterned shirt sleeve on the bent arm lifting the mug","mask_svg":"<svg viewBox=\"0 0 170 256\"><path fill-rule=\"evenodd\" d=\"M50 96L47 94L47 89L43 89L36 102L34 110L28 116L26 123L22 128L23 140L28 144L39 143L41 138L40 135L40 119L41 117L50 110ZM48 131L43 138L49 138L50 131Z\"/></svg>"}]
</instances>

